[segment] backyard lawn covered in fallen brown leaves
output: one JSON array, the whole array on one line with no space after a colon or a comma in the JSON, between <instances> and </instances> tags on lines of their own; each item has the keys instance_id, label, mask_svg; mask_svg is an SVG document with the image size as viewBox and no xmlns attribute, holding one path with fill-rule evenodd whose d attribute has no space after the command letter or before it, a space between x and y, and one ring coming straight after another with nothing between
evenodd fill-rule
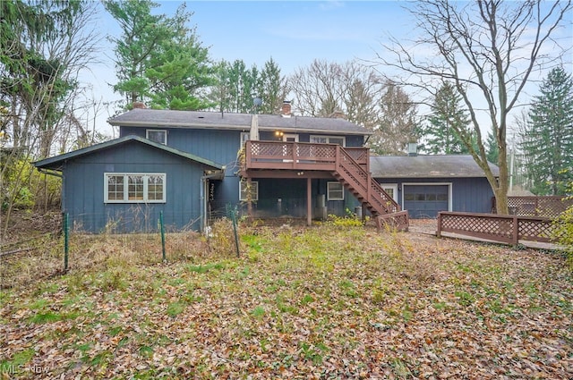
<instances>
[{"instance_id":1,"label":"backyard lawn covered in fallen brown leaves","mask_svg":"<svg viewBox=\"0 0 573 380\"><path fill-rule=\"evenodd\" d=\"M2 375L573 377L558 254L331 224L241 233L240 258L221 239L167 264L115 249L3 291Z\"/></svg>"}]
</instances>

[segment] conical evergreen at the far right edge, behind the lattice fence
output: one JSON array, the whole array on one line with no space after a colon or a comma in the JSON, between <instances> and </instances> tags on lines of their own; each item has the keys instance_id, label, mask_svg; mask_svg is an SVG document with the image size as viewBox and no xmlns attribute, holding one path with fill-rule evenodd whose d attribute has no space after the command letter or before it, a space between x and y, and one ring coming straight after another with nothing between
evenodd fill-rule
<instances>
[{"instance_id":1,"label":"conical evergreen at the far right edge, behind the lattice fence","mask_svg":"<svg viewBox=\"0 0 573 380\"><path fill-rule=\"evenodd\" d=\"M521 133L520 148L538 195L563 195L573 181L573 79L554 68L540 86Z\"/></svg>"}]
</instances>

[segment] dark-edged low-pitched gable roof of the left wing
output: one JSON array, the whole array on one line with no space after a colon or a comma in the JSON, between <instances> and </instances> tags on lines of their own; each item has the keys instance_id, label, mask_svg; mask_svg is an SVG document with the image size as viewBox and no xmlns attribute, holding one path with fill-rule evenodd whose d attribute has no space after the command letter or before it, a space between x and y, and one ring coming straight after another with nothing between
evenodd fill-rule
<instances>
[{"instance_id":1,"label":"dark-edged low-pitched gable roof of the left wing","mask_svg":"<svg viewBox=\"0 0 573 380\"><path fill-rule=\"evenodd\" d=\"M124 136L124 137L119 138L119 139L112 139L112 140L105 141L105 142L102 142L102 143L99 143L96 145L92 145L91 147L88 147L88 148L81 148L78 150L74 150L73 152L65 153L63 155L46 158L46 159L37 161L33 164L38 169L52 169L52 170L60 171L60 170L62 170L62 164L67 160L71 160L71 159L74 159L74 158L77 158L80 156L90 155L91 153L95 153L95 152L98 152L98 151L103 150L103 149L115 148L115 147L121 146L122 144L130 143L130 142L141 143L141 144L145 144L145 145L148 145L150 147L153 147L153 148L158 148L158 149L165 151L169 154L172 154L175 156L181 156L181 157L184 157L188 160L192 160L192 161L195 161L197 163L200 163L202 165L210 166L213 169L217 169L217 170L225 169L224 165L219 165L217 163L214 163L214 162L207 160L205 158L202 158L200 156L195 156L195 155L192 155L190 153L186 153L183 150L170 148L170 147L167 147L166 145L158 144L157 142L151 141L150 139L143 139L139 136L133 136L133 135Z\"/></svg>"}]
</instances>

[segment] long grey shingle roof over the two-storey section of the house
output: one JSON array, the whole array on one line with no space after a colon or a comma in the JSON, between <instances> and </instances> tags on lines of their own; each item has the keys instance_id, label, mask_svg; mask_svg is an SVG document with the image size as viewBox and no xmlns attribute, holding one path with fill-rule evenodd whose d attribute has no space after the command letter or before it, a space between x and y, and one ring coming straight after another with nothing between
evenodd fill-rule
<instances>
[{"instance_id":1,"label":"long grey shingle roof over the two-storey section of the house","mask_svg":"<svg viewBox=\"0 0 573 380\"><path fill-rule=\"evenodd\" d=\"M365 128L344 119L326 117L290 116L260 114L260 131L297 131L317 133L372 134ZM252 114L221 114L204 111L173 111L134 108L124 114L110 118L107 122L115 126L133 127L175 127L217 130L249 130Z\"/></svg>"}]
</instances>

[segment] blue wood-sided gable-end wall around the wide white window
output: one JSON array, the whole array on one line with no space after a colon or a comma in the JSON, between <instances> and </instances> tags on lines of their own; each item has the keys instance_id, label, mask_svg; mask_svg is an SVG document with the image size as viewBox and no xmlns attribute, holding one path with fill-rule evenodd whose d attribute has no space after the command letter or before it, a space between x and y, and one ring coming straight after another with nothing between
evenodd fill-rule
<instances>
[{"instance_id":1,"label":"blue wood-sided gable-end wall around the wide white window","mask_svg":"<svg viewBox=\"0 0 573 380\"><path fill-rule=\"evenodd\" d=\"M166 203L104 203L104 173L166 173ZM201 228L202 165L135 141L68 161L64 212L83 232L151 232L163 211L167 231Z\"/></svg>"}]
</instances>

